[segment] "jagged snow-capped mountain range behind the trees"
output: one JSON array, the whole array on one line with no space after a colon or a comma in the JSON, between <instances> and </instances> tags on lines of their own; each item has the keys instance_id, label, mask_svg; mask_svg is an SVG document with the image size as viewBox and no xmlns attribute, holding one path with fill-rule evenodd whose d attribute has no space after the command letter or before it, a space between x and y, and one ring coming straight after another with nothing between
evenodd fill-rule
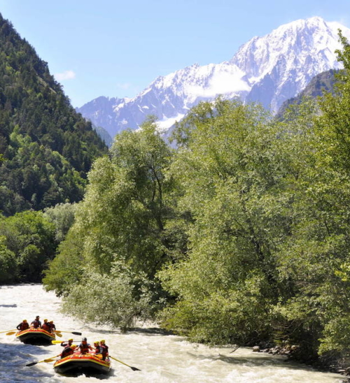
<instances>
[{"instance_id":1,"label":"jagged snow-capped mountain range behind the trees","mask_svg":"<svg viewBox=\"0 0 350 383\"><path fill-rule=\"evenodd\" d=\"M341 48L337 29L350 39L350 29L321 17L296 20L263 37L253 37L228 62L193 64L156 78L133 99L101 96L78 112L113 137L137 129L147 115L156 115L167 130L199 101L241 97L274 112L283 101L301 92L314 75L340 68L335 50Z\"/></svg>"}]
</instances>

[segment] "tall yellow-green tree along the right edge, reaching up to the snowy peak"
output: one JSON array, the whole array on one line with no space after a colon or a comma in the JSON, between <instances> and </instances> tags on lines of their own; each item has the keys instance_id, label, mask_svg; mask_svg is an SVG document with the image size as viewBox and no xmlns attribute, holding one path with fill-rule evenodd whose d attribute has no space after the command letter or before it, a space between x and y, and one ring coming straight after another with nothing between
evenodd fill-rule
<instances>
[{"instance_id":1,"label":"tall yellow-green tree along the right edge, reaching up to the snowy peak","mask_svg":"<svg viewBox=\"0 0 350 383\"><path fill-rule=\"evenodd\" d=\"M318 325L320 352L349 354L350 45L341 33L339 39L343 49L337 53L344 71L337 75L335 94L320 102L314 162L308 166L304 192L307 209L290 247L304 260L297 270L300 289L291 306L302 313L305 323L314 319Z\"/></svg>"}]
</instances>

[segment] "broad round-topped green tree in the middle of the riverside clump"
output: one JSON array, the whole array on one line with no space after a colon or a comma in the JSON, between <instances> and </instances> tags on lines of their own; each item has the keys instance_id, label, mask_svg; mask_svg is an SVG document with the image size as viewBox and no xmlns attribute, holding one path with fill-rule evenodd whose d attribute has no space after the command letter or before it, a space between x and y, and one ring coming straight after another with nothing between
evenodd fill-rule
<instances>
[{"instance_id":1,"label":"broad round-topped green tree in the middle of the riverside clump","mask_svg":"<svg viewBox=\"0 0 350 383\"><path fill-rule=\"evenodd\" d=\"M274 236L288 230L272 202L281 178L272 118L259 106L218 99L193 108L176 140L172 173L192 223L187 256L159 273L179 297L163 324L211 344L263 338L279 292Z\"/></svg>"}]
</instances>

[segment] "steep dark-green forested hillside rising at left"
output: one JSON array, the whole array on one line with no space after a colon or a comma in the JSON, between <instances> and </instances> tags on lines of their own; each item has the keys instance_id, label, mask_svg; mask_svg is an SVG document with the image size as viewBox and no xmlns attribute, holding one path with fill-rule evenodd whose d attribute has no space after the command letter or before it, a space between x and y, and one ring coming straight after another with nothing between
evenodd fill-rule
<instances>
[{"instance_id":1,"label":"steep dark-green forested hillside rising at left","mask_svg":"<svg viewBox=\"0 0 350 383\"><path fill-rule=\"evenodd\" d=\"M0 15L0 211L80 201L106 146L34 48Z\"/></svg>"}]
</instances>

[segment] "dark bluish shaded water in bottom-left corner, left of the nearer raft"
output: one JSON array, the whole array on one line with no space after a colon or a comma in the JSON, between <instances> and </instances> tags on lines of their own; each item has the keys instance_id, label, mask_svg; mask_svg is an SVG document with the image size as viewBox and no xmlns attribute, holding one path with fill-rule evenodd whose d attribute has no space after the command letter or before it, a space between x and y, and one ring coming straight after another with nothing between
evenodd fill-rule
<instances>
[{"instance_id":1,"label":"dark bluish shaded water in bottom-left corner, left of the nearer raft","mask_svg":"<svg viewBox=\"0 0 350 383\"><path fill-rule=\"evenodd\" d=\"M0 382L37 383L40 377L51 377L36 366L27 367L26 364L39 361L45 349L33 345L0 343ZM35 358L33 355L36 355Z\"/></svg>"}]
</instances>

